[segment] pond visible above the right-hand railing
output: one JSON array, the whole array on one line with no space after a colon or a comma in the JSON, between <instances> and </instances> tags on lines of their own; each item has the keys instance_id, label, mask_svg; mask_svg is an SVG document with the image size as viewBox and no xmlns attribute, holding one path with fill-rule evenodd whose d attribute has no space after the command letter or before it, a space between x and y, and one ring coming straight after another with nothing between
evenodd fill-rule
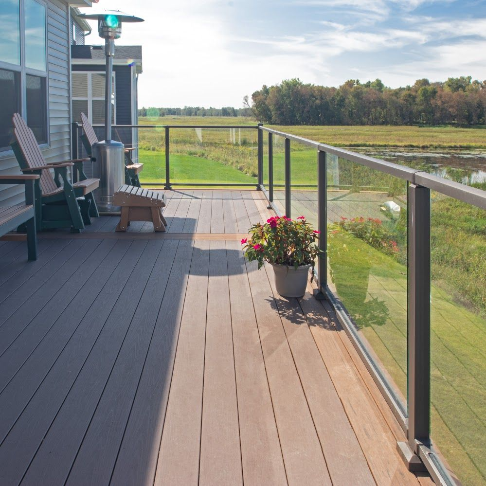
<instances>
[{"instance_id":1,"label":"pond visible above the right-hand railing","mask_svg":"<svg viewBox=\"0 0 486 486\"><path fill-rule=\"evenodd\" d=\"M486 150L352 148L359 153L407 165L463 184L486 183Z\"/></svg>"}]
</instances>

